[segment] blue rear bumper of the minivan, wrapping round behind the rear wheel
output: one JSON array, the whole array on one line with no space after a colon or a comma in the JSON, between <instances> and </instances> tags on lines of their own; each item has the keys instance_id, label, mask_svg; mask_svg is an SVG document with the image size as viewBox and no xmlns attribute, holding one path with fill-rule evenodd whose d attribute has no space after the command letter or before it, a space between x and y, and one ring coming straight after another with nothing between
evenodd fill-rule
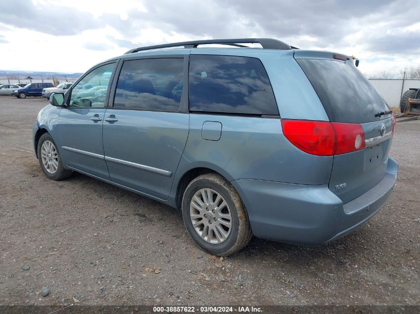
<instances>
[{"instance_id":1,"label":"blue rear bumper of the minivan, wrapping round behind the rear wheel","mask_svg":"<svg viewBox=\"0 0 420 314\"><path fill-rule=\"evenodd\" d=\"M322 245L344 236L376 214L391 197L398 164L388 159L384 178L345 204L325 186L240 179L232 184L247 207L256 237Z\"/></svg>"}]
</instances>

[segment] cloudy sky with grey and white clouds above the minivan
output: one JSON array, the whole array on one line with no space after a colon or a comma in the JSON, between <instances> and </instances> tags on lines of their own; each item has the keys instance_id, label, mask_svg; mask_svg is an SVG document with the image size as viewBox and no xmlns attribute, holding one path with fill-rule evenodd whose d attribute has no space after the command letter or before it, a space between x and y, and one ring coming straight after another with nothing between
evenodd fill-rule
<instances>
[{"instance_id":1,"label":"cloudy sky with grey and white clouds above the minivan","mask_svg":"<svg viewBox=\"0 0 420 314\"><path fill-rule=\"evenodd\" d=\"M1 0L0 69L84 72L135 47L264 37L397 74L420 66L419 12L420 0Z\"/></svg>"}]
</instances>

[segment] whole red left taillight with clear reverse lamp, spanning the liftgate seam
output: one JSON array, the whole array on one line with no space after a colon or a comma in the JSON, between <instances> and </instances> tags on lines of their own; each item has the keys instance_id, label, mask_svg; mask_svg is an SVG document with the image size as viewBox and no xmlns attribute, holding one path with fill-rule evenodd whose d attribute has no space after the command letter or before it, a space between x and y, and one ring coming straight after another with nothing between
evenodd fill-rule
<instances>
[{"instance_id":1,"label":"whole red left taillight with clear reverse lamp, spanning the liftgate seam","mask_svg":"<svg viewBox=\"0 0 420 314\"><path fill-rule=\"evenodd\" d=\"M332 156L365 147L359 124L282 119L281 126L293 145L312 155Z\"/></svg>"}]
</instances>

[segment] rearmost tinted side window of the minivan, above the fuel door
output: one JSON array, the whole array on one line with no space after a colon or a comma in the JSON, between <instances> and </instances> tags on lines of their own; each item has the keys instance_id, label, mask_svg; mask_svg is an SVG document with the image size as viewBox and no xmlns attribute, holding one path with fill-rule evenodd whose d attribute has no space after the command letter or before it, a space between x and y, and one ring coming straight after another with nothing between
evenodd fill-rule
<instances>
[{"instance_id":1,"label":"rearmost tinted side window of the minivan, above the fuel door","mask_svg":"<svg viewBox=\"0 0 420 314\"><path fill-rule=\"evenodd\" d=\"M255 58L191 55L191 111L278 115L262 63Z\"/></svg>"}]
</instances>

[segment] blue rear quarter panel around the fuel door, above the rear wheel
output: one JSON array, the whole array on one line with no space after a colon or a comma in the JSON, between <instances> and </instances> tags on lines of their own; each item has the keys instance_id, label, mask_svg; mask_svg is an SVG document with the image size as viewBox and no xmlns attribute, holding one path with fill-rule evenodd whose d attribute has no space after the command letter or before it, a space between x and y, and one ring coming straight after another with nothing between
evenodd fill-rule
<instances>
[{"instance_id":1,"label":"blue rear quarter panel around the fuel door, above the rear wheel","mask_svg":"<svg viewBox=\"0 0 420 314\"><path fill-rule=\"evenodd\" d=\"M202 138L206 121L222 124L218 141ZM333 157L307 154L283 135L280 119L190 114L190 131L178 170L205 167L229 181L258 179L308 185L328 184Z\"/></svg>"}]
</instances>

